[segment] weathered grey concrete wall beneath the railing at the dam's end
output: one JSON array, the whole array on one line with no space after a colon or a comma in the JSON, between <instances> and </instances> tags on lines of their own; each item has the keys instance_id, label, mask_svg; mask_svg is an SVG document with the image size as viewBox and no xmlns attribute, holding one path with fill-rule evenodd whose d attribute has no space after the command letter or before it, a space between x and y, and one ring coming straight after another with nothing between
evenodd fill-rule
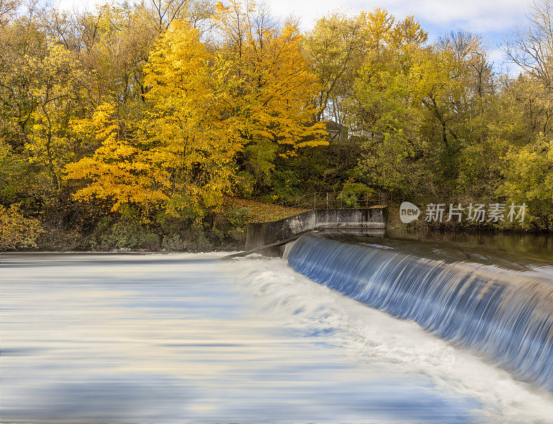
<instances>
[{"instance_id":1,"label":"weathered grey concrete wall beneath the railing at the dam's end","mask_svg":"<svg viewBox=\"0 0 553 424\"><path fill-rule=\"evenodd\" d=\"M248 224L245 250L286 240L315 229L385 229L386 212L386 206L366 209L313 209L278 221Z\"/></svg>"}]
</instances>

